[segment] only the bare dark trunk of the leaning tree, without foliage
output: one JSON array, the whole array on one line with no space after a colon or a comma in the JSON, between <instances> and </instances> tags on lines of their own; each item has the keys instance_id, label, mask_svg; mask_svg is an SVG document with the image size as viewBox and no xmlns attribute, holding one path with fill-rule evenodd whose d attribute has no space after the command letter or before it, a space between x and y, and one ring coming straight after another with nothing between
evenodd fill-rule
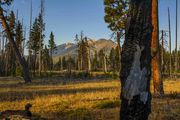
<instances>
[{"instance_id":1,"label":"only the bare dark trunk of the leaning tree, without foliage","mask_svg":"<svg viewBox=\"0 0 180 120\"><path fill-rule=\"evenodd\" d=\"M22 71L23 71L23 77L24 77L24 80L26 83L28 82L31 82L31 78L29 76L29 69L28 69L28 66L27 66L27 63L25 61L25 58L23 56L21 56L19 50L18 50L18 47L14 41L14 38L12 37L12 33L9 29L9 25L7 24L6 22L6 19L4 17L4 14L3 14L3 9L0 7L0 20L2 22L2 26L7 34L7 37L16 53L16 57L18 58L19 60L19 63L21 64L21 67L22 67Z\"/></svg>"}]
</instances>

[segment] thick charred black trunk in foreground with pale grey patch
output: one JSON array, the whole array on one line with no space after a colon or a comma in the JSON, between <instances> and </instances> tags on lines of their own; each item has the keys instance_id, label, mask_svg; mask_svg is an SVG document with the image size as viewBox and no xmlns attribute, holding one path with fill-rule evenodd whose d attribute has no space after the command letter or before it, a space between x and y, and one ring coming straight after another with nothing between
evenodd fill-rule
<instances>
[{"instance_id":1,"label":"thick charred black trunk in foreground with pale grey patch","mask_svg":"<svg viewBox=\"0 0 180 120\"><path fill-rule=\"evenodd\" d=\"M121 120L147 120L151 112L152 0L130 0L121 62Z\"/></svg>"}]
</instances>

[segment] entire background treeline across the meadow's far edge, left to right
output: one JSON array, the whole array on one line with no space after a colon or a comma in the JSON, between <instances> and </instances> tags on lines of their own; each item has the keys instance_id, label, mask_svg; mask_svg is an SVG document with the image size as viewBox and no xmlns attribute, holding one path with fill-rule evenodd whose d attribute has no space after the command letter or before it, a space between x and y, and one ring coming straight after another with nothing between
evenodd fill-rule
<instances>
[{"instance_id":1,"label":"entire background treeline across the meadow's far edge, left to right","mask_svg":"<svg viewBox=\"0 0 180 120\"><path fill-rule=\"evenodd\" d=\"M104 73L113 72L116 75L118 75L120 71L119 46L117 45L117 47L112 48L110 53L105 49L96 51L92 45L89 45L89 39L84 36L83 32L75 36L77 56L60 56L58 62L54 63L52 54L56 48L54 42L55 36L53 32L51 32L48 45L44 45L45 23L43 21L42 11L39 13L39 16L34 19L32 26L30 26L29 40L26 40L26 27L22 21L15 17L13 11L7 16L7 21L21 55L24 56L26 46L28 48L29 54L26 56L26 61L32 77L37 76L39 71L40 73L51 73L52 71L67 71L67 73L71 73L71 71L86 73L103 71ZM3 31L0 35L0 76L22 76L22 69L16 59L13 47ZM171 59L171 70L172 73L175 73L176 52L172 51L170 55L169 50L165 49L167 46L164 45L165 43L161 42L161 49L159 49L161 71L163 74L170 74L169 66ZM180 60L180 50L178 51L178 60ZM179 62L177 66L179 70Z\"/></svg>"}]
</instances>

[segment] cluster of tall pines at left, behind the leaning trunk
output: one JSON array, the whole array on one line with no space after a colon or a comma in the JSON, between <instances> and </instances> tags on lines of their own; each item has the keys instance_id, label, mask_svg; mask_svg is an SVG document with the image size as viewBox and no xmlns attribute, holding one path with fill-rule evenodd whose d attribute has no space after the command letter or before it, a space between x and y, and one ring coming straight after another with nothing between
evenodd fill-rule
<instances>
[{"instance_id":1,"label":"cluster of tall pines at left, behind the leaning trunk","mask_svg":"<svg viewBox=\"0 0 180 120\"><path fill-rule=\"evenodd\" d=\"M12 0L0 2L2 5L10 5L11 3ZM1 16L3 18L1 20L4 22L4 26L0 32L0 76L28 76L30 71L31 77L33 77L36 76L37 69L39 75L41 75L42 70L46 71L51 69L49 66L52 66L53 62L49 62L49 59L52 61L52 54L50 53L52 53L51 51L55 47L54 35L53 32L51 32L49 45L44 45L44 0L41 0L40 8L39 15L32 20L31 1L29 38L26 39L27 29L26 26L23 25L23 20L18 20L18 12L16 16L13 11L4 16L4 10L1 7ZM28 55L25 56L26 48L28 49ZM26 66L26 63L28 66ZM24 72L24 68L28 71ZM26 75L24 73L26 73Z\"/></svg>"}]
</instances>

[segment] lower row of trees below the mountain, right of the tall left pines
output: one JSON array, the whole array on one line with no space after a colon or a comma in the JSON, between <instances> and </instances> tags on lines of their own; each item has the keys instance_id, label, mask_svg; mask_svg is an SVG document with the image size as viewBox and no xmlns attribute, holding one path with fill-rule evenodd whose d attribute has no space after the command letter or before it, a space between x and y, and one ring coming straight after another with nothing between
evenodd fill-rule
<instances>
[{"instance_id":1,"label":"lower row of trees below the mountain, right of the tall left pines","mask_svg":"<svg viewBox=\"0 0 180 120\"><path fill-rule=\"evenodd\" d=\"M58 62L54 64L53 70L76 70L82 72L118 72L119 71L119 51L118 47L112 48L111 51L101 49L93 50L89 45L87 37L78 37L77 56L61 56Z\"/></svg>"}]
</instances>

